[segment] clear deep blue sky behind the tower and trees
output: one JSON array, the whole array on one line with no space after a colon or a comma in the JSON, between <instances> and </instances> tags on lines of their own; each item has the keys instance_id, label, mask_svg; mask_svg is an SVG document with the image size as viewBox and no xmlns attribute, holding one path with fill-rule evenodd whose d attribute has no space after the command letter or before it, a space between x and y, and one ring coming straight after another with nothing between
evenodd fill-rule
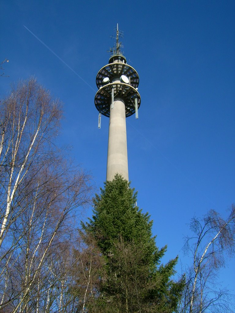
<instances>
[{"instance_id":1,"label":"clear deep blue sky behind the tower and trees","mask_svg":"<svg viewBox=\"0 0 235 313\"><path fill-rule=\"evenodd\" d=\"M234 16L234 1L1 2L0 54L9 59L1 95L35 75L60 98L58 142L91 171L97 190L106 178L108 118L98 130L95 79L117 23L124 32L141 95L139 119L127 118L129 178L157 245L168 245L165 261L179 254L184 263L191 217L210 209L225 216L235 201ZM220 280L234 290L233 261Z\"/></svg>"}]
</instances>

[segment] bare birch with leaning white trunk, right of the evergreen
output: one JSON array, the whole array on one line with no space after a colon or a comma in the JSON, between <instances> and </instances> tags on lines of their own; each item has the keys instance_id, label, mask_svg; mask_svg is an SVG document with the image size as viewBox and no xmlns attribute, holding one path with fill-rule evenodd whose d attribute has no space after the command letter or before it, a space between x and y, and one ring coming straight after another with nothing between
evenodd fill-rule
<instances>
[{"instance_id":1,"label":"bare birch with leaning white trunk, right of the evergreen","mask_svg":"<svg viewBox=\"0 0 235 313\"><path fill-rule=\"evenodd\" d=\"M226 254L234 256L235 206L223 219L211 210L204 218L192 218L193 237L187 237L185 252L193 256L193 265L186 269L186 284L178 307L181 313L230 312L229 290L216 288L219 269Z\"/></svg>"}]
</instances>

